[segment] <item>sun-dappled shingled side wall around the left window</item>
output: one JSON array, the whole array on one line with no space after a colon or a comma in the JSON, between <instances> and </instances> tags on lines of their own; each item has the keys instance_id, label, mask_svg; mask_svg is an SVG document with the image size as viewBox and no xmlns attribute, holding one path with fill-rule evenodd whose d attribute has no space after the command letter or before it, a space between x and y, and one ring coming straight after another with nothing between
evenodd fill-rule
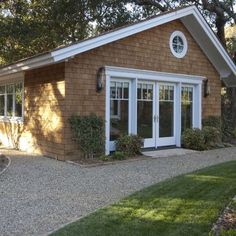
<instances>
[{"instance_id":1,"label":"sun-dappled shingled side wall around the left window","mask_svg":"<svg viewBox=\"0 0 236 236\"><path fill-rule=\"evenodd\" d=\"M24 79L24 121L0 122L5 145L64 159L64 69L61 63L18 76Z\"/></svg>"}]
</instances>

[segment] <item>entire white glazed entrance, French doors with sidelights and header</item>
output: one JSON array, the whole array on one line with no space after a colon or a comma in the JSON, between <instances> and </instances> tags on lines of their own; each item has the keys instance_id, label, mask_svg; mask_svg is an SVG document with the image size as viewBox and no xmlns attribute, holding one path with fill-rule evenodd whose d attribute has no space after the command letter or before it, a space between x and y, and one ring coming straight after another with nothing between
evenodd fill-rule
<instances>
[{"instance_id":1,"label":"entire white glazed entrance, French doors with sidelights and header","mask_svg":"<svg viewBox=\"0 0 236 236\"><path fill-rule=\"evenodd\" d=\"M144 147L181 146L181 131L201 128L200 76L106 67L106 154L122 134Z\"/></svg>"}]
</instances>

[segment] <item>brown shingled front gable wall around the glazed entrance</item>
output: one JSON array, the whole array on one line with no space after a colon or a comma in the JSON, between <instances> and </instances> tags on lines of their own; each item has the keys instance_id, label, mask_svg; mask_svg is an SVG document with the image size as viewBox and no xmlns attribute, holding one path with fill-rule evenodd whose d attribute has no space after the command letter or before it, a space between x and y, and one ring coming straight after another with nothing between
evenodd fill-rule
<instances>
[{"instance_id":1,"label":"brown shingled front gable wall around the glazed entrance","mask_svg":"<svg viewBox=\"0 0 236 236\"><path fill-rule=\"evenodd\" d=\"M169 39L182 31L188 42L188 52L182 59L174 57ZM221 114L221 81L214 66L192 38L180 20L146 30L122 40L82 53L66 63L66 119L72 114L96 113L105 118L105 89L96 92L96 73L102 66L200 75L209 79L211 94L202 98L202 115ZM71 130L65 124L65 155L78 153L71 142Z\"/></svg>"}]
</instances>

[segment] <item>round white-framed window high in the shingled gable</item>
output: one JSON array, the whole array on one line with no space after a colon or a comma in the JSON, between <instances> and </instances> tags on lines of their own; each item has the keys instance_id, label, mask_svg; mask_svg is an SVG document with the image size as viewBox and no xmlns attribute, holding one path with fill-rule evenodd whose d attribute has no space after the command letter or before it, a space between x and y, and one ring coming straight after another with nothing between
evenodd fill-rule
<instances>
[{"instance_id":1,"label":"round white-framed window high in the shingled gable","mask_svg":"<svg viewBox=\"0 0 236 236\"><path fill-rule=\"evenodd\" d=\"M170 36L170 50L177 58L183 58L188 50L188 43L184 34L180 31L175 31Z\"/></svg>"}]
</instances>

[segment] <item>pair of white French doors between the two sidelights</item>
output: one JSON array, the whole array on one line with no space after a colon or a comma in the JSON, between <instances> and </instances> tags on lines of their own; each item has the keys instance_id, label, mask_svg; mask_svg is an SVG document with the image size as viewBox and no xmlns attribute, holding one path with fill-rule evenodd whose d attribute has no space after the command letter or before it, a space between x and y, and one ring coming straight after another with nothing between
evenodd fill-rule
<instances>
[{"instance_id":1,"label":"pair of white French doors between the two sidelights","mask_svg":"<svg viewBox=\"0 0 236 236\"><path fill-rule=\"evenodd\" d=\"M139 81L137 85L137 133L144 147L176 144L176 86Z\"/></svg>"}]
</instances>

